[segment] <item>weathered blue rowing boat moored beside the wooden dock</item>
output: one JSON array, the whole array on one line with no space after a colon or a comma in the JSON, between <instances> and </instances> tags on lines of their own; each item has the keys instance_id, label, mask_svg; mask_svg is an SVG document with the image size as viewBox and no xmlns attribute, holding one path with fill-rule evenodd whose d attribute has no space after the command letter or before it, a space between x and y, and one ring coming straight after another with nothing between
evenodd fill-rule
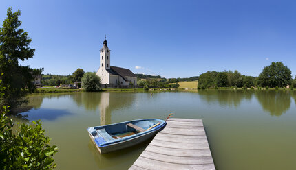
<instances>
[{"instance_id":1,"label":"weathered blue rowing boat moored beside the wooden dock","mask_svg":"<svg viewBox=\"0 0 296 170\"><path fill-rule=\"evenodd\" d=\"M88 127L87 132L101 154L131 147L155 136L166 121L138 119L110 125Z\"/></svg>"}]
</instances>

